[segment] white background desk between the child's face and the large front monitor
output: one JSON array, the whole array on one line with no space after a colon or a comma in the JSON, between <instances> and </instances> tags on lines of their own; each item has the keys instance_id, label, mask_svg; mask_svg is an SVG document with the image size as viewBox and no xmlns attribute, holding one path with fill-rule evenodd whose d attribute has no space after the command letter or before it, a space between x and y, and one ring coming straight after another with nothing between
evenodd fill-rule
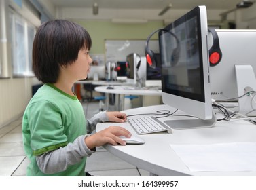
<instances>
[{"instance_id":1,"label":"white background desk between the child's face and the large front monitor","mask_svg":"<svg viewBox=\"0 0 256 190\"><path fill-rule=\"evenodd\" d=\"M111 86L111 85L109 85ZM139 95L139 96L162 96L162 90L150 89L150 88L134 88L132 86L111 86L113 89L108 89L107 86L98 86L95 88L97 92L106 93L106 107L109 107L109 94L117 94L117 110L123 110L120 107L124 105L124 95ZM153 99L151 100L153 102ZM158 102L159 104L159 102ZM143 104L144 105L144 104Z\"/></svg>"}]
</instances>

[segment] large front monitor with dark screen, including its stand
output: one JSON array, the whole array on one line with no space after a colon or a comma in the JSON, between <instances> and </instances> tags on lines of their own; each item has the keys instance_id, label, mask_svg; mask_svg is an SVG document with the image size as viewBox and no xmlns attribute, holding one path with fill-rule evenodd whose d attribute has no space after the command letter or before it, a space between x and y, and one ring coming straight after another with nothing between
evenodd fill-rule
<instances>
[{"instance_id":1,"label":"large front monitor with dark screen, including its stand","mask_svg":"<svg viewBox=\"0 0 256 190\"><path fill-rule=\"evenodd\" d=\"M177 48L179 56L172 52ZM159 32L162 62L162 100L197 119L170 120L171 128L198 128L215 125L209 81L207 14L205 6L195 7Z\"/></svg>"}]
</instances>

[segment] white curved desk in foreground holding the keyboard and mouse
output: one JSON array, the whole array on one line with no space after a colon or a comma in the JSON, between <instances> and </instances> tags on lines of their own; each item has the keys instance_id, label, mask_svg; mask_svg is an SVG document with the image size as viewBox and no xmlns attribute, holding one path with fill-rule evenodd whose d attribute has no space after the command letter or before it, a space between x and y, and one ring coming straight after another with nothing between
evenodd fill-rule
<instances>
[{"instance_id":1,"label":"white curved desk in foreground holding the keyboard and mouse","mask_svg":"<svg viewBox=\"0 0 256 190\"><path fill-rule=\"evenodd\" d=\"M124 113L127 115L155 113L158 110L164 109L170 110L170 107L166 105L141 107L126 110ZM175 110L172 109L171 111ZM164 117L160 118L160 120L164 121L170 118ZM182 119L182 117L178 119ZM184 119L188 118L184 117ZM133 135L137 135L127 122L98 123L96 131L103 130L108 126L123 126ZM218 121L213 128L173 130L172 134L146 134L139 137L145 140L144 145L104 145L104 147L109 152L128 161L130 164L159 176L256 176L256 172L190 172L183 161L170 148L170 144L256 142L256 126L247 121Z\"/></svg>"}]
</instances>

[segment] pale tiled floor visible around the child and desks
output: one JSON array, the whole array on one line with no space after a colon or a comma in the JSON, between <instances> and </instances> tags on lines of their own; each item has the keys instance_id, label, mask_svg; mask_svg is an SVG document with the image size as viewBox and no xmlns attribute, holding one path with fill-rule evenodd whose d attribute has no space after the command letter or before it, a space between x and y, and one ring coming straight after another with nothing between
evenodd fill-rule
<instances>
[{"instance_id":1,"label":"pale tiled floor visible around the child and desks","mask_svg":"<svg viewBox=\"0 0 256 190\"><path fill-rule=\"evenodd\" d=\"M86 118L98 110L98 102L84 102ZM22 145L22 118L0 128L0 176L25 176L29 160ZM96 176L149 176L149 172L122 161L103 148L88 157L86 172Z\"/></svg>"}]
</instances>

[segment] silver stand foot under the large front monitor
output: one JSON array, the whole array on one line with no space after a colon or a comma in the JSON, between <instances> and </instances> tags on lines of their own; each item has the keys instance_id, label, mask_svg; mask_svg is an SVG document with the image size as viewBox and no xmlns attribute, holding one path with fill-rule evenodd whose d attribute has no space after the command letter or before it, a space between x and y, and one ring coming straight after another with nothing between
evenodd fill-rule
<instances>
[{"instance_id":1,"label":"silver stand foot under the large front monitor","mask_svg":"<svg viewBox=\"0 0 256 190\"><path fill-rule=\"evenodd\" d=\"M183 130L183 129L194 129L194 128L211 128L215 126L216 123L216 115L215 111L212 112L212 118L208 120L204 119L182 119L182 120L168 120L164 121L167 126L175 130Z\"/></svg>"}]
</instances>

